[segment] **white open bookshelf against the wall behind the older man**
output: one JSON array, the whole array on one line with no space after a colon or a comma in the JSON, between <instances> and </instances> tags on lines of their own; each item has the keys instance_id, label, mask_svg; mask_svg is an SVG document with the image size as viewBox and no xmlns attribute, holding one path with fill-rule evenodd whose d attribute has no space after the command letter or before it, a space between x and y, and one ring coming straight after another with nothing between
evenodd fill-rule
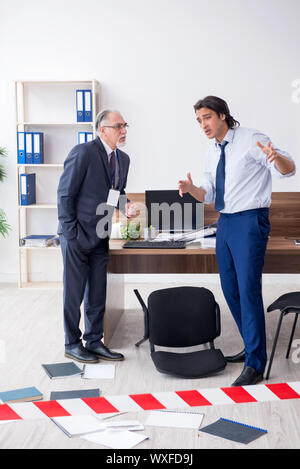
<instances>
[{"instance_id":1,"label":"white open bookshelf against the wall behind the older man","mask_svg":"<svg viewBox=\"0 0 300 469\"><path fill-rule=\"evenodd\" d=\"M76 121L76 89L92 90L91 122ZM51 262L57 265L57 277L62 278L60 247L19 246L19 239L31 234L56 234L56 193L63 163L71 148L78 143L78 132L93 132L94 137L96 136L100 84L96 80L17 80L15 105L16 142L18 131L44 133L42 164L18 164L16 145L18 284L19 288L61 289L61 280L47 278L47 266ZM36 173L36 203L20 205L20 174L33 172ZM57 258L54 262L53 256ZM39 264L41 268L38 267L38 271L35 271Z\"/></svg>"}]
</instances>

